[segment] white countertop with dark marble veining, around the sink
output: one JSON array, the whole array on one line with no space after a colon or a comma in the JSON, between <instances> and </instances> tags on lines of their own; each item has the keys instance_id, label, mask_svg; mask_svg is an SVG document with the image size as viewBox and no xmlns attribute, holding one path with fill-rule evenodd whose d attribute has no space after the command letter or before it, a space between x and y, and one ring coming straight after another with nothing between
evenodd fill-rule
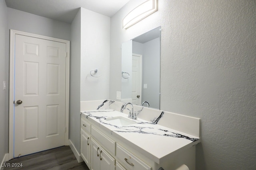
<instances>
[{"instance_id":1,"label":"white countertop with dark marble veining, around the sink","mask_svg":"<svg viewBox=\"0 0 256 170\"><path fill-rule=\"evenodd\" d=\"M132 125L121 127L111 125L106 119L116 116L128 117L127 114L113 109L98 109L81 113L86 115L94 125L98 125L158 164L200 142L200 138L139 118Z\"/></svg>"}]
</instances>

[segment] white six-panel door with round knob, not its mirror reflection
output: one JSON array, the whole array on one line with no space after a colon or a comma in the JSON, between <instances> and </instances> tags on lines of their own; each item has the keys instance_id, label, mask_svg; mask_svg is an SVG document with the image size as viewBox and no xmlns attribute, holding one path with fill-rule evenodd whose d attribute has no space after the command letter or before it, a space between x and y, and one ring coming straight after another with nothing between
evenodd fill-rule
<instances>
[{"instance_id":1,"label":"white six-panel door with round knob, not its mirror reflection","mask_svg":"<svg viewBox=\"0 0 256 170\"><path fill-rule=\"evenodd\" d=\"M66 55L66 43L15 35L14 158L65 145Z\"/></svg>"}]
</instances>

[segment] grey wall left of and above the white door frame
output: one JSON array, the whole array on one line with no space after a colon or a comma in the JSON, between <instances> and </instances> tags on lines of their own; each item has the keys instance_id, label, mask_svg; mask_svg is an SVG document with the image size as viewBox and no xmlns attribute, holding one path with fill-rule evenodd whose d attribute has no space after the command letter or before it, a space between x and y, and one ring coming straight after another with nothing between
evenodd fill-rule
<instances>
[{"instance_id":1,"label":"grey wall left of and above the white door frame","mask_svg":"<svg viewBox=\"0 0 256 170\"><path fill-rule=\"evenodd\" d=\"M8 152L10 29L70 40L70 24L7 8L0 1L0 161ZM6 90L2 90L4 80Z\"/></svg>"}]
</instances>

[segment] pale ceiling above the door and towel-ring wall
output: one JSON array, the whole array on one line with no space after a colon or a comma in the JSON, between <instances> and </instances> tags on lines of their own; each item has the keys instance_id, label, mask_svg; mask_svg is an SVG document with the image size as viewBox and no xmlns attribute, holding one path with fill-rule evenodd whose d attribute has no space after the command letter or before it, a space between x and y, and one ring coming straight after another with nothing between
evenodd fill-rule
<instances>
[{"instance_id":1,"label":"pale ceiling above the door and towel-ring wall","mask_svg":"<svg viewBox=\"0 0 256 170\"><path fill-rule=\"evenodd\" d=\"M5 0L7 7L72 23L79 8L112 17L129 0Z\"/></svg>"}]
</instances>

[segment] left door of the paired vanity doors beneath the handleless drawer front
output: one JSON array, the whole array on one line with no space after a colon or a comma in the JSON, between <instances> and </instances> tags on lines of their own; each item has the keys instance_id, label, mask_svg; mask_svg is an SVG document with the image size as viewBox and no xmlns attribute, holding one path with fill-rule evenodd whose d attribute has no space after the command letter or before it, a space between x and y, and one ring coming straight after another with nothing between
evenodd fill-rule
<instances>
[{"instance_id":1,"label":"left door of the paired vanity doors beneath the handleless drawer front","mask_svg":"<svg viewBox=\"0 0 256 170\"><path fill-rule=\"evenodd\" d=\"M98 143L91 139L91 148L91 169L100 170L100 145L98 145Z\"/></svg>"}]
</instances>

